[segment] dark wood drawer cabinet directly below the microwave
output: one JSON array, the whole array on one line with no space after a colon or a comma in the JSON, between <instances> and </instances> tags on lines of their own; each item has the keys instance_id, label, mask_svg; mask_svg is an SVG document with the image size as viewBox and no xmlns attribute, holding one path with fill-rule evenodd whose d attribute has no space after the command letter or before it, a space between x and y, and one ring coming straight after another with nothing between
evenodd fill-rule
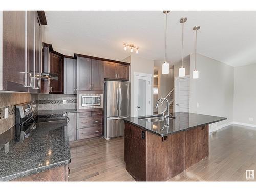
<instances>
[{"instance_id":1,"label":"dark wood drawer cabinet directly below the microwave","mask_svg":"<svg viewBox=\"0 0 256 192\"><path fill-rule=\"evenodd\" d=\"M81 112L77 114L77 139L102 135L103 111Z\"/></svg>"}]
</instances>

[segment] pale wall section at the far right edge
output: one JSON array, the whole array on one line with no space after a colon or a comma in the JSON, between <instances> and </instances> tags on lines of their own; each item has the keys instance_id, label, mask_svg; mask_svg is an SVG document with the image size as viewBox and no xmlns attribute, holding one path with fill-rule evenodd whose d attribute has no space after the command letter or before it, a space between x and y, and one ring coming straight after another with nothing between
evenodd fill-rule
<instances>
[{"instance_id":1,"label":"pale wall section at the far right edge","mask_svg":"<svg viewBox=\"0 0 256 192\"><path fill-rule=\"evenodd\" d=\"M256 64L234 68L234 122L256 125Z\"/></svg>"}]
</instances>

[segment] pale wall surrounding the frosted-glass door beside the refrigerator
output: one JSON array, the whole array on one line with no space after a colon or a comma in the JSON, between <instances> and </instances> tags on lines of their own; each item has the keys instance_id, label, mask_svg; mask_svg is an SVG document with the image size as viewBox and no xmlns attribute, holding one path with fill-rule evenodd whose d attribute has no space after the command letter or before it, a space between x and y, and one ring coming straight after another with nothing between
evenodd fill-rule
<instances>
[{"instance_id":1,"label":"pale wall surrounding the frosted-glass door beside the refrigerator","mask_svg":"<svg viewBox=\"0 0 256 192\"><path fill-rule=\"evenodd\" d=\"M154 61L144 59L138 56L131 55L125 59L124 62L130 62L130 82L131 82L131 117L134 116L134 72L148 73L152 75L151 79L151 113L153 114L153 75L154 75Z\"/></svg>"}]
</instances>

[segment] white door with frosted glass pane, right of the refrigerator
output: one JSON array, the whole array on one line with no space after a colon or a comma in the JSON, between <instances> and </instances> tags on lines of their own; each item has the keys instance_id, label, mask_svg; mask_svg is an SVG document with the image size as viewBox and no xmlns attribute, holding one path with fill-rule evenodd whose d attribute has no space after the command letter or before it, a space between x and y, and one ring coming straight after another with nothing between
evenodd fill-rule
<instances>
[{"instance_id":1,"label":"white door with frosted glass pane, right of the refrigerator","mask_svg":"<svg viewBox=\"0 0 256 192\"><path fill-rule=\"evenodd\" d=\"M151 115L151 74L134 74L134 116Z\"/></svg>"}]
</instances>

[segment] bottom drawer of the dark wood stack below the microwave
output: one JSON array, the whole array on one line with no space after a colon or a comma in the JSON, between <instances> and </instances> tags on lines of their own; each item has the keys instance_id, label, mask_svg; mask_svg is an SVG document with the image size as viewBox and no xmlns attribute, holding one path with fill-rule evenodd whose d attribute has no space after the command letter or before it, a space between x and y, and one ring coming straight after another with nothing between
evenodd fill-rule
<instances>
[{"instance_id":1,"label":"bottom drawer of the dark wood stack below the microwave","mask_svg":"<svg viewBox=\"0 0 256 192\"><path fill-rule=\"evenodd\" d=\"M97 137L102 135L102 125L95 125L93 127L87 127L79 129L78 139L86 139L90 137Z\"/></svg>"}]
</instances>

